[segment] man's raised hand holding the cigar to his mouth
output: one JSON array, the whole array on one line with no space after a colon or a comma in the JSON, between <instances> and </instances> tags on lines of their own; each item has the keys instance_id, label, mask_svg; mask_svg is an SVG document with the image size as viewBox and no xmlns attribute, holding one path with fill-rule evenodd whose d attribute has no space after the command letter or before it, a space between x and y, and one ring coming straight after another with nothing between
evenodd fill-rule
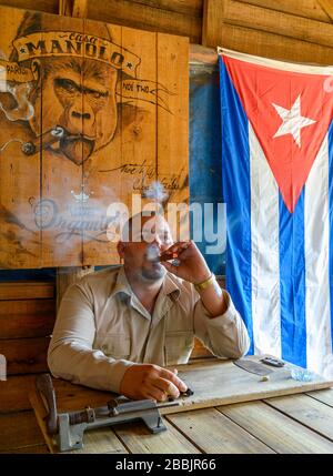
<instances>
[{"instance_id":1,"label":"man's raised hand holding the cigar to his mouth","mask_svg":"<svg viewBox=\"0 0 333 476\"><path fill-rule=\"evenodd\" d=\"M168 271L182 280L198 284L208 280L211 275L210 269L193 241L178 242L161 254L162 260L176 259L179 266L168 261L161 261Z\"/></svg>"}]
</instances>

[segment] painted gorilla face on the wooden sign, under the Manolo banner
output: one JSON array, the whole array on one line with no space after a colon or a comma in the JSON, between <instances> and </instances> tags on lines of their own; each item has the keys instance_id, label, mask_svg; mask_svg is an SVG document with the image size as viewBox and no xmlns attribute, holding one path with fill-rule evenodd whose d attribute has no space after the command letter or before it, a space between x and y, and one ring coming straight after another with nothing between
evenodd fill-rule
<instances>
[{"instance_id":1,"label":"painted gorilla face on the wooden sign, under the Manolo banner","mask_svg":"<svg viewBox=\"0 0 333 476\"><path fill-rule=\"evenodd\" d=\"M44 59L41 81L32 94L38 134L56 125L64 130L60 151L77 165L107 145L117 128L115 87L118 71L89 59Z\"/></svg>"}]
</instances>

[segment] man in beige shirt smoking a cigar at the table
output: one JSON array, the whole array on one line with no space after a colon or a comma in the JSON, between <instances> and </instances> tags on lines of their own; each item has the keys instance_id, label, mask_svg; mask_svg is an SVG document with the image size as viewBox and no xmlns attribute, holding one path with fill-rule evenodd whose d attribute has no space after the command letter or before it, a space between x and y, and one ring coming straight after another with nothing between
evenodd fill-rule
<instances>
[{"instance_id":1,"label":"man in beige shirt smoking a cigar at the table","mask_svg":"<svg viewBox=\"0 0 333 476\"><path fill-rule=\"evenodd\" d=\"M188 363L194 336L222 358L246 353L249 336L196 245L174 243L161 215L140 219L139 230L127 222L130 239L118 243L123 266L64 294L48 362L54 376L162 402L186 391L174 365Z\"/></svg>"}]
</instances>

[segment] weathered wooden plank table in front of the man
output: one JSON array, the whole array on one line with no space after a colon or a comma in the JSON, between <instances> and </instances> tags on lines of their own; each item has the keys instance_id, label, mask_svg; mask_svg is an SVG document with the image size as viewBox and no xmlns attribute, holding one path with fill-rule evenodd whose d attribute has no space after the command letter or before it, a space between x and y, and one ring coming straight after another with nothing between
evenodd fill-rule
<instances>
[{"instance_id":1,"label":"weathered wooden plank table in front of the man","mask_svg":"<svg viewBox=\"0 0 333 476\"><path fill-rule=\"evenodd\" d=\"M286 371L261 382L260 376L232 362L216 359L180 366L179 371L195 393L192 401L181 402L179 413L168 413L174 408L161 412L167 432L152 435L141 423L98 428L85 432L84 448L71 453L333 453L333 388L317 389L333 386L332 382L300 383L287 377ZM54 388L59 412L104 405L110 399L108 393L64 381L54 379ZM30 399L50 450L57 452L46 433L46 412L34 392Z\"/></svg>"}]
</instances>

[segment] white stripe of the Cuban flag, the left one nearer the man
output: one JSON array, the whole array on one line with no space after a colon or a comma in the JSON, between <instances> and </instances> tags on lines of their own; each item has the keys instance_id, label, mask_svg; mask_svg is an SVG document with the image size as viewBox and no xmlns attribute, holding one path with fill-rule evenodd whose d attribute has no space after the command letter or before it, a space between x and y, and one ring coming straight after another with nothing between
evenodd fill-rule
<instances>
[{"instance_id":1,"label":"white stripe of the Cuban flag, the left one nearer the man","mask_svg":"<svg viewBox=\"0 0 333 476\"><path fill-rule=\"evenodd\" d=\"M249 123L254 353L281 357L279 189Z\"/></svg>"}]
</instances>

